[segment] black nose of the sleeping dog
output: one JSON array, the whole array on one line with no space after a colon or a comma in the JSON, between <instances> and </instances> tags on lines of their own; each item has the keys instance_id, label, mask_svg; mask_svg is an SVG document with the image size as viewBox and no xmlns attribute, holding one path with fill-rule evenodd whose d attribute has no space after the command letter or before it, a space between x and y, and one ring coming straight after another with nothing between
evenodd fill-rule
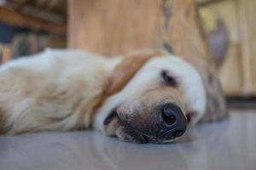
<instances>
[{"instance_id":1,"label":"black nose of the sleeping dog","mask_svg":"<svg viewBox=\"0 0 256 170\"><path fill-rule=\"evenodd\" d=\"M187 119L183 111L172 103L163 106L160 116L161 133L165 139L174 139L182 136L187 128Z\"/></svg>"}]
</instances>

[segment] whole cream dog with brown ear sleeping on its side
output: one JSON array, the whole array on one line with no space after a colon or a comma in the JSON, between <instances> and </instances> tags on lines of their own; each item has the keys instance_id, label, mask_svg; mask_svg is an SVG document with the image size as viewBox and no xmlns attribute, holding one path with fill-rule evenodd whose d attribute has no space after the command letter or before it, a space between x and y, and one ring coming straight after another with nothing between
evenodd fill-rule
<instances>
[{"instance_id":1,"label":"whole cream dog with brown ear sleeping on its side","mask_svg":"<svg viewBox=\"0 0 256 170\"><path fill-rule=\"evenodd\" d=\"M114 58L47 49L0 67L0 133L93 128L133 143L171 142L227 115L218 80L203 75L158 49Z\"/></svg>"}]
</instances>

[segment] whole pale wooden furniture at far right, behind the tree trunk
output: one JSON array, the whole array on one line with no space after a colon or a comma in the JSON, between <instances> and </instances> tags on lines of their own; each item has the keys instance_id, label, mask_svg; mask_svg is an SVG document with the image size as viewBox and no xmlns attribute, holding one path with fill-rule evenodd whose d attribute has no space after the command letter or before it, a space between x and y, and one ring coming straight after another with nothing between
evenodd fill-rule
<instances>
[{"instance_id":1,"label":"whole pale wooden furniture at far right, behind the tree trunk","mask_svg":"<svg viewBox=\"0 0 256 170\"><path fill-rule=\"evenodd\" d=\"M225 94L256 95L256 1L201 1L208 10L224 20L230 37L230 49L218 71Z\"/></svg>"}]
</instances>

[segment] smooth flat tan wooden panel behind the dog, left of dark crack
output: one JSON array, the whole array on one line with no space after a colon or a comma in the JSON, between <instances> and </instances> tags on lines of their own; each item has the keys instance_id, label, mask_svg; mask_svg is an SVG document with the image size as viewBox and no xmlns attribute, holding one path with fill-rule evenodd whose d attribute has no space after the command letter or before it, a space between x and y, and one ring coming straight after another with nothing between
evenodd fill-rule
<instances>
[{"instance_id":1,"label":"smooth flat tan wooden panel behind the dog, left of dark crack","mask_svg":"<svg viewBox=\"0 0 256 170\"><path fill-rule=\"evenodd\" d=\"M152 48L160 34L161 0L71 0L69 46L101 54ZM131 11L132 8L132 11ZM139 20L138 20L139 16ZM136 41L135 41L136 40Z\"/></svg>"}]
</instances>

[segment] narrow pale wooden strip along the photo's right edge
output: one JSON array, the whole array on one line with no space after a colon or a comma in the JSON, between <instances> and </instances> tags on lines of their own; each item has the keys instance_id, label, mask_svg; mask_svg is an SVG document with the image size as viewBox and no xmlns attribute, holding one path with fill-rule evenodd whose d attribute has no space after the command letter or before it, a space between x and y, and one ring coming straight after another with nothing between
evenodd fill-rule
<instances>
[{"instance_id":1,"label":"narrow pale wooden strip along the photo's right edge","mask_svg":"<svg viewBox=\"0 0 256 170\"><path fill-rule=\"evenodd\" d=\"M243 80L246 95L256 95L256 1L239 0L239 22L242 42Z\"/></svg>"}]
</instances>

